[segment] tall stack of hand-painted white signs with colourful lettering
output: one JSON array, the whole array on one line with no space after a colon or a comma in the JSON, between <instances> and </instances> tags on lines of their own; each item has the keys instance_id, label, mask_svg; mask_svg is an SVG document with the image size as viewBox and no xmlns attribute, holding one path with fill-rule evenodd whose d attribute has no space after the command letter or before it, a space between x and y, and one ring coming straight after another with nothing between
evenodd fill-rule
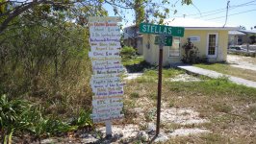
<instances>
[{"instance_id":1,"label":"tall stack of hand-painted white signs with colourful lettering","mask_svg":"<svg viewBox=\"0 0 256 144\"><path fill-rule=\"evenodd\" d=\"M124 72L120 58L120 17L90 17L90 53L93 75L91 119L101 123L121 119Z\"/></svg>"}]
</instances>

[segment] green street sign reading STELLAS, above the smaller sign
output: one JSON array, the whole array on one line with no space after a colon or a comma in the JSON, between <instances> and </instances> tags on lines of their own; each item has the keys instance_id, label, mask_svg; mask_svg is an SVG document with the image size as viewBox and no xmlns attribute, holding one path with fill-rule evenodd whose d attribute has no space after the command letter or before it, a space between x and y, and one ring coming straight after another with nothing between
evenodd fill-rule
<instances>
[{"instance_id":1,"label":"green street sign reading STELLAS, above the smaller sign","mask_svg":"<svg viewBox=\"0 0 256 144\"><path fill-rule=\"evenodd\" d=\"M183 27L171 27L165 25L154 25L149 23L140 24L140 33L155 35L184 36L185 29Z\"/></svg>"}]
</instances>

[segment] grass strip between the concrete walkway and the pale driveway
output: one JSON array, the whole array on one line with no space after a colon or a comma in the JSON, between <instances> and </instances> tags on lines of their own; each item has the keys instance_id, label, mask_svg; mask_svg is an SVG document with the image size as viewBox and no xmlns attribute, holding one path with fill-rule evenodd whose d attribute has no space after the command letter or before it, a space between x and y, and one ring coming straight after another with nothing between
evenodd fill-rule
<instances>
[{"instance_id":1,"label":"grass strip between the concrete walkway and the pale driveway","mask_svg":"<svg viewBox=\"0 0 256 144\"><path fill-rule=\"evenodd\" d=\"M194 64L194 66L209 69L209 70L214 70L219 73L223 73L223 74L227 74L227 75L231 75L231 76L235 76L235 77L239 77L239 78L243 78L246 80L256 82L256 72L255 71L238 68L238 67L233 67L226 63Z\"/></svg>"}]
</instances>

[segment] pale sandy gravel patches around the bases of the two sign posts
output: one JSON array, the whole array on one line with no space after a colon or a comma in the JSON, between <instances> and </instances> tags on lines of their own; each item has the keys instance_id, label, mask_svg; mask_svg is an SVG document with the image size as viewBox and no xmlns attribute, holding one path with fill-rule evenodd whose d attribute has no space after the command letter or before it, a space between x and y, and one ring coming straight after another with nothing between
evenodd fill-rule
<instances>
[{"instance_id":1,"label":"pale sandy gravel patches around the bases of the two sign posts","mask_svg":"<svg viewBox=\"0 0 256 144\"><path fill-rule=\"evenodd\" d=\"M135 108L137 113L143 113L142 108ZM163 108L161 112L162 124L176 123L179 125L191 125L201 124L209 122L208 120L199 118L199 113L194 111L192 108ZM95 132L78 132L77 137L66 137L63 139L48 138L42 140L44 144L50 143L96 143L96 144L109 144L109 143L133 143L141 141L142 143L148 143L150 141L156 143L165 143L171 137L175 136L188 136L192 134L200 134L210 132L206 129L195 128L192 129L176 129L176 130L160 130L157 137L156 124L154 122L145 123L146 127L140 130L140 124L129 124L129 125L113 125L112 132L113 137L106 139L106 127L100 127Z\"/></svg>"}]
</instances>

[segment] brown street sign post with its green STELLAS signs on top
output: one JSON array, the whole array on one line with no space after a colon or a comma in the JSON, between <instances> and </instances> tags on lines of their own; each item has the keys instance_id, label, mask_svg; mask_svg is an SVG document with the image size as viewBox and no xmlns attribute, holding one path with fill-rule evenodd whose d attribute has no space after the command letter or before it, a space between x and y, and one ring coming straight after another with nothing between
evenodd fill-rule
<instances>
[{"instance_id":1,"label":"brown street sign post with its green STELLAS signs on top","mask_svg":"<svg viewBox=\"0 0 256 144\"><path fill-rule=\"evenodd\" d=\"M160 35L155 39L155 44L159 44L159 64L158 64L158 97L157 97L157 129L156 136L160 132L160 113L161 113L161 93L162 93L162 64L163 64L163 47L171 46L172 36L184 36L183 27L170 27L165 25L154 25L149 23L140 24L140 33ZM171 36L171 37L169 37Z\"/></svg>"}]
</instances>

